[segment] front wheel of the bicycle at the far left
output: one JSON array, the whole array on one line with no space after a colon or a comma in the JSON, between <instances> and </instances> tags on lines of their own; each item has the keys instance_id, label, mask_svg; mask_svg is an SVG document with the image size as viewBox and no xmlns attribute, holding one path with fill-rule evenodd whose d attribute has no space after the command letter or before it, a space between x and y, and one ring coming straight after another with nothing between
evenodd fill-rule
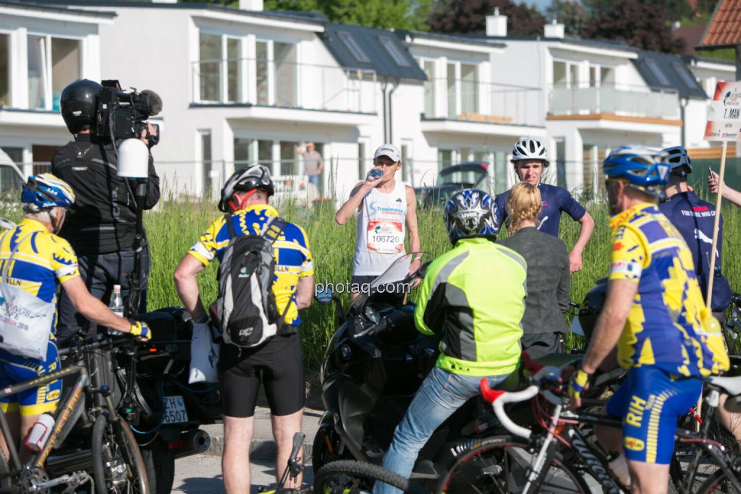
<instances>
[{"instance_id":1,"label":"front wheel of the bicycle at the far left","mask_svg":"<svg viewBox=\"0 0 741 494\"><path fill-rule=\"evenodd\" d=\"M90 449L96 494L149 494L142 453L122 418L99 415Z\"/></svg>"}]
</instances>

